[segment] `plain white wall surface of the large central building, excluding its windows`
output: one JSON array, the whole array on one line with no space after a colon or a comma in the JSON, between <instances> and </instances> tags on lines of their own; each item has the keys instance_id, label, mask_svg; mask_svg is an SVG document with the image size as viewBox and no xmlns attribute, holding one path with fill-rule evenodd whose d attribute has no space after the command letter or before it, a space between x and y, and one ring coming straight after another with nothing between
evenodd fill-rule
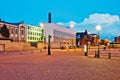
<instances>
[{"instance_id":1,"label":"plain white wall surface of the large central building, excluding its windows","mask_svg":"<svg viewBox=\"0 0 120 80\"><path fill-rule=\"evenodd\" d=\"M51 42L54 42L54 31L58 31L61 32L60 36L57 37L62 37L62 38L66 38L66 39L74 39L74 44L75 44L75 39L76 39L76 32L72 29L69 28L65 28L64 26L61 25L57 25L57 24L53 24L53 23L47 23L44 24L44 37L46 38L46 42L48 42L48 35L51 35ZM73 36L67 36L64 35L64 33L67 33L68 35L73 35ZM60 43L59 43L60 44Z\"/></svg>"}]
</instances>

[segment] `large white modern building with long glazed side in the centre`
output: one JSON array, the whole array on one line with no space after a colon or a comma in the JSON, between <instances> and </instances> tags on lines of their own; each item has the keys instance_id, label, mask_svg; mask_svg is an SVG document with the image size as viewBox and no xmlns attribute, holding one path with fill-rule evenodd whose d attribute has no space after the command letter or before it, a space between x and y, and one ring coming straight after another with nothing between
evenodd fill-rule
<instances>
[{"instance_id":1,"label":"large white modern building with long glazed side in the centre","mask_svg":"<svg viewBox=\"0 0 120 80\"><path fill-rule=\"evenodd\" d=\"M53 23L45 23L43 28L44 41L48 42L48 35L51 35L53 48L75 46L76 32L74 30Z\"/></svg>"}]
</instances>

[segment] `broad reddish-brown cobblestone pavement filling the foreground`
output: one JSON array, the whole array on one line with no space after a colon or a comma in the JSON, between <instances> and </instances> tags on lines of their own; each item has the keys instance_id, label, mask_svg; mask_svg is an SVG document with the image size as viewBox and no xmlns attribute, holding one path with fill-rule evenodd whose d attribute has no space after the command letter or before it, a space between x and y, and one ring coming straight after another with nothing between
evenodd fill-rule
<instances>
[{"instance_id":1,"label":"broad reddish-brown cobblestone pavement filling the foreground","mask_svg":"<svg viewBox=\"0 0 120 80\"><path fill-rule=\"evenodd\" d=\"M75 51L1 55L0 80L120 80L120 61Z\"/></svg>"}]
</instances>

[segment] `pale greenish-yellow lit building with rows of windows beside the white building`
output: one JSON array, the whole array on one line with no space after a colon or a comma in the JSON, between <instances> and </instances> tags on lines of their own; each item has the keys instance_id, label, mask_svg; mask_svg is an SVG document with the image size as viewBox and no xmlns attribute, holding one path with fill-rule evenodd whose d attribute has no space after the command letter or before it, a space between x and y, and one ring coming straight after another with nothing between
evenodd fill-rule
<instances>
[{"instance_id":1,"label":"pale greenish-yellow lit building with rows of windows beside the white building","mask_svg":"<svg viewBox=\"0 0 120 80\"><path fill-rule=\"evenodd\" d=\"M43 42L43 29L38 26L26 25L26 42Z\"/></svg>"}]
</instances>

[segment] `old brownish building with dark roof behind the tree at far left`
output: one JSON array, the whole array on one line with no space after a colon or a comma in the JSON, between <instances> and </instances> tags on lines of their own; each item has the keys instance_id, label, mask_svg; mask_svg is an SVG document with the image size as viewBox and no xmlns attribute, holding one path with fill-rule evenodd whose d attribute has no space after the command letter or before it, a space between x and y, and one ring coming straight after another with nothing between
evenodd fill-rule
<instances>
[{"instance_id":1,"label":"old brownish building with dark roof behind the tree at far left","mask_svg":"<svg viewBox=\"0 0 120 80\"><path fill-rule=\"evenodd\" d=\"M10 23L5 22L0 19L0 27L3 25L6 25L9 29L10 36L9 39L12 39L13 41L17 42L25 42L26 41L26 30L24 22L18 22L18 23ZM2 38L2 35L0 34L0 38Z\"/></svg>"}]
</instances>

